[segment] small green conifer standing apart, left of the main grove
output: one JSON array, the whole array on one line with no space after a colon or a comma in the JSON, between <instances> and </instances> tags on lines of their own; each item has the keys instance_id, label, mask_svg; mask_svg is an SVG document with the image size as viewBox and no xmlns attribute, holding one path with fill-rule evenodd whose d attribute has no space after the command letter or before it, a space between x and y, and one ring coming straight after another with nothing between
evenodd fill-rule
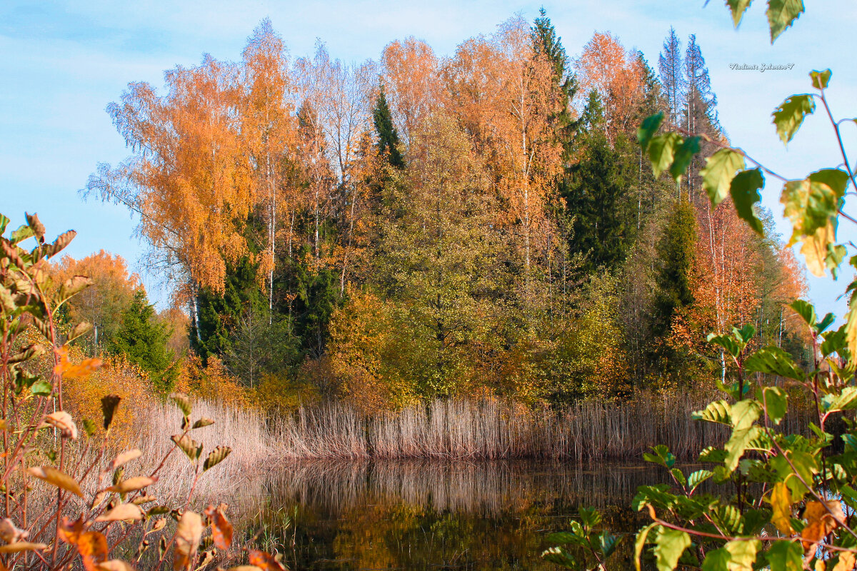
<instances>
[{"instance_id":1,"label":"small green conifer standing apart, left of the main grove","mask_svg":"<svg viewBox=\"0 0 857 571\"><path fill-rule=\"evenodd\" d=\"M124 354L149 373L155 388L167 392L177 373L174 355L166 348L172 331L154 316L154 307L149 305L146 292L138 289L131 305L123 312L122 324L111 339L109 350L113 354Z\"/></svg>"}]
</instances>

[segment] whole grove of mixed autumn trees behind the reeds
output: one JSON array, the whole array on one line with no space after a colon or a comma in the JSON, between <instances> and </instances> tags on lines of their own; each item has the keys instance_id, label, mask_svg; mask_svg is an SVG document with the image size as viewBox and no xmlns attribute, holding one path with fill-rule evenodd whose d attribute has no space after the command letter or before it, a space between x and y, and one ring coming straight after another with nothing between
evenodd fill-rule
<instances>
[{"instance_id":1,"label":"whole grove of mixed autumn trees behind the reeds","mask_svg":"<svg viewBox=\"0 0 857 571\"><path fill-rule=\"evenodd\" d=\"M139 217L189 350L269 401L707 387L710 332L806 352L784 307L806 284L770 214L760 237L710 207L702 161L652 175L636 129L658 110L725 142L694 36L657 67L609 33L568 57L543 11L357 64L292 59L266 20L239 62L130 84L108 112L132 154L85 193Z\"/></svg>"}]
</instances>

